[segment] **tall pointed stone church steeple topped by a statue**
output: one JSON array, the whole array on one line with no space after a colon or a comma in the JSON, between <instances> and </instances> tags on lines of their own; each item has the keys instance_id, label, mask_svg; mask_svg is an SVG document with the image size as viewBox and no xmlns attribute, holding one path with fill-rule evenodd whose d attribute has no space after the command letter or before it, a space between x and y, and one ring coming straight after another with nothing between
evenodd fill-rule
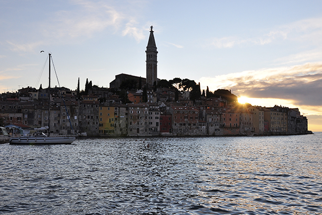
<instances>
[{"instance_id":1,"label":"tall pointed stone church steeple topped by a statue","mask_svg":"<svg viewBox=\"0 0 322 215\"><path fill-rule=\"evenodd\" d=\"M153 26L150 27L150 36L146 46L146 83L149 86L157 84L157 51L153 35Z\"/></svg>"}]
</instances>

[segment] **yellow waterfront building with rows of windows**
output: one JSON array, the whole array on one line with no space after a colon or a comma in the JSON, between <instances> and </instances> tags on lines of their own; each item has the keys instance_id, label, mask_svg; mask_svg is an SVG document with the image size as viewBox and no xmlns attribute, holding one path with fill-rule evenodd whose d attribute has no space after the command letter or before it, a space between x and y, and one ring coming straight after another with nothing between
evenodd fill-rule
<instances>
[{"instance_id":1,"label":"yellow waterfront building with rows of windows","mask_svg":"<svg viewBox=\"0 0 322 215\"><path fill-rule=\"evenodd\" d=\"M114 134L115 107L100 106L99 108L99 134Z\"/></svg>"}]
</instances>

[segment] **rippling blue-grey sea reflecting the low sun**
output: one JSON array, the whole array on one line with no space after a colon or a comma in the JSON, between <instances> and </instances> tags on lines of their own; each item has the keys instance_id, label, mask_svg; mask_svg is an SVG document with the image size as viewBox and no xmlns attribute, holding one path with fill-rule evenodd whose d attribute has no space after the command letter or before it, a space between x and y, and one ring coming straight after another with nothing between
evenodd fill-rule
<instances>
[{"instance_id":1,"label":"rippling blue-grey sea reflecting the low sun","mask_svg":"<svg viewBox=\"0 0 322 215\"><path fill-rule=\"evenodd\" d=\"M322 132L0 145L0 214L322 214Z\"/></svg>"}]
</instances>

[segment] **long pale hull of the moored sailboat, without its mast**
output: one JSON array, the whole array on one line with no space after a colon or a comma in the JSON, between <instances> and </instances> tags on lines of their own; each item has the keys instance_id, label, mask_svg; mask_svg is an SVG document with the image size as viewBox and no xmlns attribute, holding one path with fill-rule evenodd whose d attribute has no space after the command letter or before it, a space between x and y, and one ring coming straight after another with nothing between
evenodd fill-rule
<instances>
[{"instance_id":1,"label":"long pale hull of the moored sailboat, without its mast","mask_svg":"<svg viewBox=\"0 0 322 215\"><path fill-rule=\"evenodd\" d=\"M34 137L21 136L10 139L10 144L15 145L49 145L49 144L71 144L76 137Z\"/></svg>"}]
</instances>

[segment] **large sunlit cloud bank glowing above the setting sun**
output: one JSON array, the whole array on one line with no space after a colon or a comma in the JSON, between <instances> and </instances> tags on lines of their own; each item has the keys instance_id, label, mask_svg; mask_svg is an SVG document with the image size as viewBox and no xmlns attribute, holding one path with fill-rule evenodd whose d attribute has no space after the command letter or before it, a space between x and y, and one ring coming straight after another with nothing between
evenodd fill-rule
<instances>
[{"instance_id":1,"label":"large sunlit cloud bank glowing above the setting sun","mask_svg":"<svg viewBox=\"0 0 322 215\"><path fill-rule=\"evenodd\" d=\"M200 79L202 88L230 89L252 98L292 100L294 105L322 106L322 62L243 71Z\"/></svg>"}]
</instances>

